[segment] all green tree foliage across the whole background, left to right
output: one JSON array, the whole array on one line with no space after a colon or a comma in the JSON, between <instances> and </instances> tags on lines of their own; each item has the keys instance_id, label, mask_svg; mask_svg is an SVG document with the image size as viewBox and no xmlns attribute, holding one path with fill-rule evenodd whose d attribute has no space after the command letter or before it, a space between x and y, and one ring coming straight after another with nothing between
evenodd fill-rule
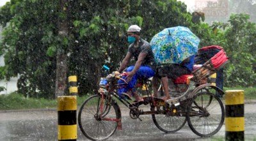
<instances>
[{"instance_id":1,"label":"all green tree foliage across the whole background, left to right","mask_svg":"<svg viewBox=\"0 0 256 141\"><path fill-rule=\"evenodd\" d=\"M68 36L58 34L58 18L68 19ZM204 15L199 18L204 20ZM0 9L4 27L0 54L5 62L0 78L19 76L19 93L54 98L56 56L65 52L68 76L77 75L79 94L93 93L102 65L111 71L118 68L127 52L126 30L138 24L147 41L166 27L189 27L201 39L200 47L220 45L227 50L228 85L255 84L255 24L248 22L248 16L230 17L225 30L222 24L192 20L186 5L176 0L68 1L67 13L60 11L58 1L11 0Z\"/></svg>"}]
</instances>

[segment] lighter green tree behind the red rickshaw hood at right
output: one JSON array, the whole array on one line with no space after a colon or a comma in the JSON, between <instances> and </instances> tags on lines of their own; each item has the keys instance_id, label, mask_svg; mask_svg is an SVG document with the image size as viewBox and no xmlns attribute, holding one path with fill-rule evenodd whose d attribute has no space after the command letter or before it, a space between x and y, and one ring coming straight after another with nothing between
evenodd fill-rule
<instances>
[{"instance_id":1,"label":"lighter green tree behind the red rickshaw hood at right","mask_svg":"<svg viewBox=\"0 0 256 141\"><path fill-rule=\"evenodd\" d=\"M225 66L225 85L253 86L256 83L256 25L246 14L231 15L228 23L214 22L212 26L194 25L194 33L201 39L201 47L220 45L227 52L229 63Z\"/></svg>"}]
</instances>

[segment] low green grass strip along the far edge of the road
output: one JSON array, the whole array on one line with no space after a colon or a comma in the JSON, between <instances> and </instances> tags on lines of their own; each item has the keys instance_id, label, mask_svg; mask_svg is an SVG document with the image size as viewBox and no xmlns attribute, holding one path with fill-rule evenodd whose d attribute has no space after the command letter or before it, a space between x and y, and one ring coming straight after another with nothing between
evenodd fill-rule
<instances>
[{"instance_id":1,"label":"low green grass strip along the far edge of the road","mask_svg":"<svg viewBox=\"0 0 256 141\"><path fill-rule=\"evenodd\" d=\"M256 100L256 87L225 87L227 90L244 90L245 100ZM79 107L89 95L77 96L77 106ZM57 108L57 100L47 100L44 98L25 98L22 94L12 93L0 95L0 110L20 110L20 109L35 109L35 108ZM78 108L77 107L77 108Z\"/></svg>"}]
</instances>

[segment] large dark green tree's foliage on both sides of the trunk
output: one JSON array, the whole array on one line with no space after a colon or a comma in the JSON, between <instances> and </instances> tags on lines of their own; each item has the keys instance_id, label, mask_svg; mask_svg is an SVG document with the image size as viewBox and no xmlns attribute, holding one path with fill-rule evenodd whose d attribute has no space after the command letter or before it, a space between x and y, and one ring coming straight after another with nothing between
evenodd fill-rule
<instances>
[{"instance_id":1,"label":"large dark green tree's foliage on both sides of the trunk","mask_svg":"<svg viewBox=\"0 0 256 141\"><path fill-rule=\"evenodd\" d=\"M148 41L164 27L192 24L186 5L175 0L68 1L67 14L58 6L58 1L11 0L1 8L4 77L19 75L18 89L26 96L53 98L56 50L67 50L68 75L77 75L79 93L85 94L97 89L103 64L111 70L119 66L131 24L141 26ZM67 38L58 36L56 17L68 19Z\"/></svg>"}]
</instances>

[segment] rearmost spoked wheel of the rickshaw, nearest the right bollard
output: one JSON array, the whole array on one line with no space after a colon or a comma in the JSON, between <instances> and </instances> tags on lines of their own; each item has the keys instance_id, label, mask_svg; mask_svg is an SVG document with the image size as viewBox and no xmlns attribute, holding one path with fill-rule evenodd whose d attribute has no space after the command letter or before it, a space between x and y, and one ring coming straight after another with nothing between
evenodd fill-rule
<instances>
[{"instance_id":1,"label":"rearmost spoked wheel of the rickshaw, nearest the right bollard","mask_svg":"<svg viewBox=\"0 0 256 141\"><path fill-rule=\"evenodd\" d=\"M220 98L209 91L197 93L188 106L189 128L200 137L211 137L223 125L225 110Z\"/></svg>"}]
</instances>

